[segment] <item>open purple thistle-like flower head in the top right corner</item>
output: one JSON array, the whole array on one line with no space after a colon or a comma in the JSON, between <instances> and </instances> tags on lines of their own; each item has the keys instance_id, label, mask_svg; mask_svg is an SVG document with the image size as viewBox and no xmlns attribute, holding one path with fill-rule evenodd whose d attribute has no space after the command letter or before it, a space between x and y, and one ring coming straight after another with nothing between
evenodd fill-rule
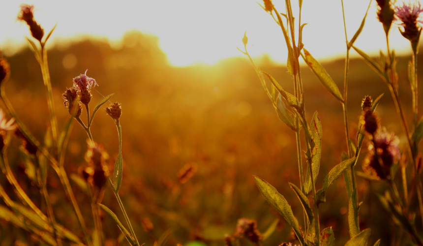
<instances>
[{"instance_id":1,"label":"open purple thistle-like flower head in the top right corner","mask_svg":"<svg viewBox=\"0 0 423 246\"><path fill-rule=\"evenodd\" d=\"M395 6L395 20L398 25L403 27L401 34L410 40L410 42L418 42L423 24L420 14L423 12L422 5L418 1L412 3L402 2Z\"/></svg>"}]
</instances>

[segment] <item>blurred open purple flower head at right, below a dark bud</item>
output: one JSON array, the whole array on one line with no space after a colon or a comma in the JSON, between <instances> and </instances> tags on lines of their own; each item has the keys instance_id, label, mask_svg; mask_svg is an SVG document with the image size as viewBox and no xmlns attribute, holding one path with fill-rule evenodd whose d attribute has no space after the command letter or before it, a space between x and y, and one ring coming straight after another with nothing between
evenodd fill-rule
<instances>
[{"instance_id":1,"label":"blurred open purple flower head at right, below a dark bud","mask_svg":"<svg viewBox=\"0 0 423 246\"><path fill-rule=\"evenodd\" d=\"M368 154L363 163L363 170L368 175L386 180L391 176L392 165L401 158L398 149L399 139L385 128L374 135L373 144L368 145Z\"/></svg>"}]
</instances>

